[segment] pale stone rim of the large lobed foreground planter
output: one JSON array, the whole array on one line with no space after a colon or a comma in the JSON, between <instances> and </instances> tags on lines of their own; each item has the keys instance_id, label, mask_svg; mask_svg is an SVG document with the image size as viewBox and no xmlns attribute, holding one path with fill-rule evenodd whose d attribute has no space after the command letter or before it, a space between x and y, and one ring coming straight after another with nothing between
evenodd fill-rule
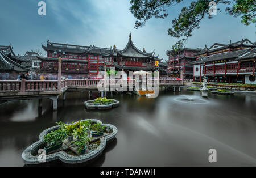
<instances>
[{"instance_id":1,"label":"pale stone rim of the large lobed foreground planter","mask_svg":"<svg viewBox=\"0 0 256 178\"><path fill-rule=\"evenodd\" d=\"M88 119L86 119L86 120L88 120ZM81 120L81 121L86 121L86 120ZM102 122L100 120L91 119L91 121L96 122L96 123L100 122L102 124ZM53 160L59 159L59 160L61 160L61 162L64 162L67 164L77 164L77 163L86 163L89 160L96 158L105 149L106 143L109 141L112 141L115 138L115 135L117 134L117 131L118 131L114 125L111 125L111 124L102 124L102 125L105 125L106 128L112 129L112 133L110 133L109 135L106 135L105 137L100 138L100 141L101 141L100 145L92 152L89 152L88 154L84 154L84 155L74 156L74 155L67 154L67 152L65 152L65 151L59 151L59 152L56 152L53 154L46 155L46 162L51 162ZM38 149L40 146L42 146L44 144L44 140L43 140L44 135L46 135L47 133L51 132L52 130L56 130L58 128L59 128L59 125L53 126L51 128L44 130L39 135L39 141L33 143L32 145L27 147L26 150L23 151L22 159L25 164L31 165L31 164L40 164L41 163L38 161L38 156L33 156L31 154L31 151Z\"/></svg>"}]
</instances>

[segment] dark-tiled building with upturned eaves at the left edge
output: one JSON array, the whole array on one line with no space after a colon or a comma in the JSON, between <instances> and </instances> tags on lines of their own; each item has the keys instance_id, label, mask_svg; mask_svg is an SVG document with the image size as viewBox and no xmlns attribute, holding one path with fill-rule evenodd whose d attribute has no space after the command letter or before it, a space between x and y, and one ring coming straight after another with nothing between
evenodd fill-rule
<instances>
[{"instance_id":1,"label":"dark-tiled building with upturned eaves at the left edge","mask_svg":"<svg viewBox=\"0 0 256 178\"><path fill-rule=\"evenodd\" d=\"M16 80L18 75L31 70L30 60L16 56L13 47L0 46L0 78L1 80Z\"/></svg>"}]
</instances>

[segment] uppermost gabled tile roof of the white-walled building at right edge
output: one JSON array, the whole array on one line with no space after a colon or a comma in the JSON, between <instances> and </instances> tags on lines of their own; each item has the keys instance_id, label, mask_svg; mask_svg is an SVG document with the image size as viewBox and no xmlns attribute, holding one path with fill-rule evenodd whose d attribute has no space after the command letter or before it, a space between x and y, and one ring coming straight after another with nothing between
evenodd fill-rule
<instances>
[{"instance_id":1,"label":"uppermost gabled tile roof of the white-walled building at right edge","mask_svg":"<svg viewBox=\"0 0 256 178\"><path fill-rule=\"evenodd\" d=\"M215 51L221 50L221 49L237 48L239 46L255 47L255 44L252 43L248 39L242 39L241 41L236 41L234 43L231 43L231 41L230 41L229 44L214 43L212 46L210 46L210 48L207 48L207 45L205 45L205 48L203 50L201 50L200 52L195 53L195 55L197 56L197 55L201 55L201 54L205 54L205 53L215 52Z\"/></svg>"}]
</instances>

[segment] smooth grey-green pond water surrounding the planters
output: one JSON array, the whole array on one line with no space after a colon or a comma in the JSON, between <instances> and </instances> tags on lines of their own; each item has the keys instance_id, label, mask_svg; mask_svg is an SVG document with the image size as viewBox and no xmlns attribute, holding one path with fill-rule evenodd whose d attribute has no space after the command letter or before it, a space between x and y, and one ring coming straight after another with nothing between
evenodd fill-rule
<instances>
[{"instance_id":1,"label":"smooth grey-green pond water surrounding the planters","mask_svg":"<svg viewBox=\"0 0 256 178\"><path fill-rule=\"evenodd\" d=\"M95 99L93 92L90 99ZM256 92L234 96L162 91L158 98L108 94L109 111L86 111L88 92L70 92L53 112L51 100L0 105L0 166L24 166L22 152L55 122L96 118L117 126L116 139L90 166L256 166ZM209 149L217 163L209 163ZM61 163L57 163L61 165Z\"/></svg>"}]
</instances>

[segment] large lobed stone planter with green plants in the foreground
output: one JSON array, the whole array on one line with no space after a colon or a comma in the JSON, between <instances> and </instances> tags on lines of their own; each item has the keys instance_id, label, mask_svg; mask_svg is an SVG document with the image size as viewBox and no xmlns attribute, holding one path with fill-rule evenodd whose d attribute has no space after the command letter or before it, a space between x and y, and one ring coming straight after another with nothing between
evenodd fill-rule
<instances>
[{"instance_id":1,"label":"large lobed stone planter with green plants in the foreground","mask_svg":"<svg viewBox=\"0 0 256 178\"><path fill-rule=\"evenodd\" d=\"M64 128L67 125L73 125L73 141L68 141L65 134L67 130ZM95 132L98 135L92 137L88 130L89 133ZM97 158L105 149L106 143L112 141L116 134L117 128L114 125L102 124L99 120L82 120L72 124L60 122L59 125L40 133L39 141L23 151L22 159L27 165L47 163L57 159L67 164L87 163ZM56 137L53 137L54 135ZM52 142L51 146L47 146L50 142ZM40 157L43 154L42 150L45 150L46 154Z\"/></svg>"}]
</instances>

